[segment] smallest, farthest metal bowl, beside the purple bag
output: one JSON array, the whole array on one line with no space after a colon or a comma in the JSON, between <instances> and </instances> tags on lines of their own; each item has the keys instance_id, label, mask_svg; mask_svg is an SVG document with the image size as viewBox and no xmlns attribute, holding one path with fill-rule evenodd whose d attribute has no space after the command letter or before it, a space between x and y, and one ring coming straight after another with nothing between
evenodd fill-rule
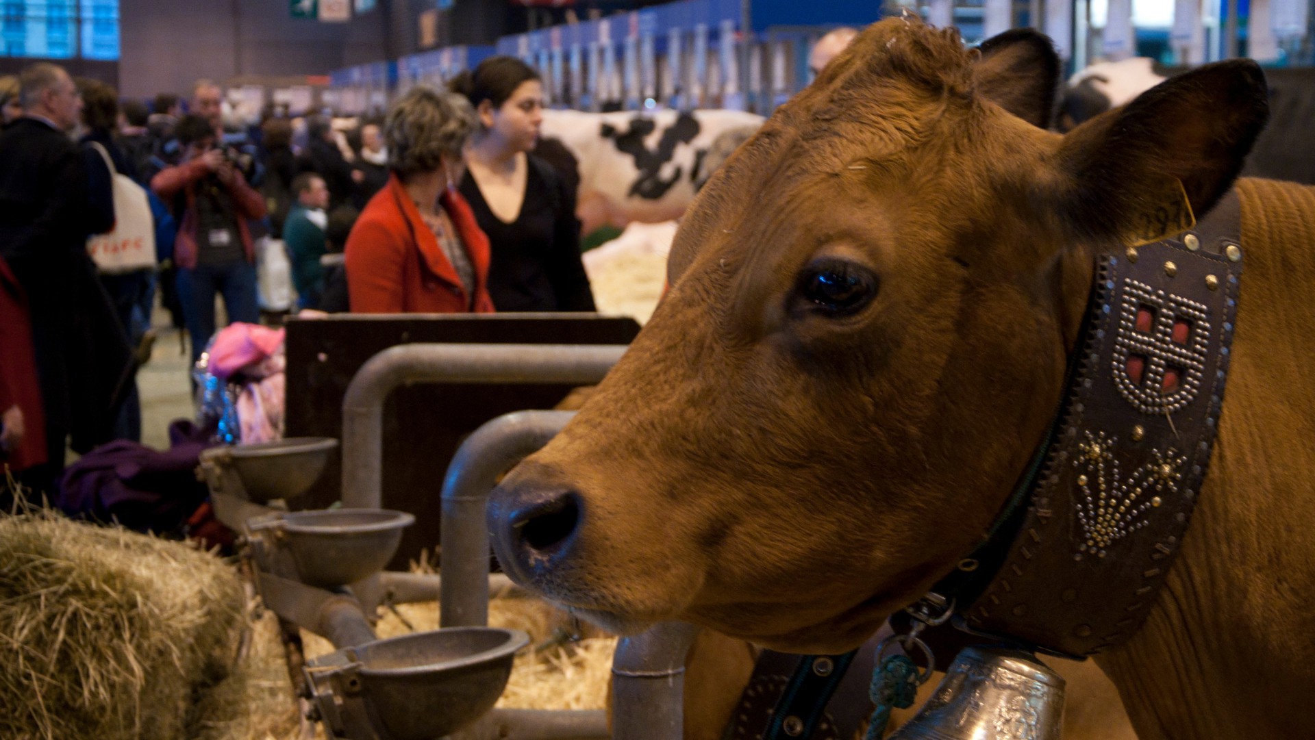
<instances>
[{"instance_id":1,"label":"smallest, farthest metal bowl, beside the purple bag","mask_svg":"<svg viewBox=\"0 0 1315 740\"><path fill-rule=\"evenodd\" d=\"M226 447L221 455L237 472L247 498L264 503L309 490L325 472L329 452L335 447L338 440L327 436L293 436Z\"/></svg>"}]
</instances>

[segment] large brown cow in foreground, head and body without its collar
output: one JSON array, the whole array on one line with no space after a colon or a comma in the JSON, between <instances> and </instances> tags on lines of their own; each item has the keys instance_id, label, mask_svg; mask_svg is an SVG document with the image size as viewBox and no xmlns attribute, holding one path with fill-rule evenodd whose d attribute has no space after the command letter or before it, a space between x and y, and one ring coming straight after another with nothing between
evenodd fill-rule
<instances>
[{"instance_id":1,"label":"large brown cow in foreground, head and body without its collar","mask_svg":"<svg viewBox=\"0 0 1315 740\"><path fill-rule=\"evenodd\" d=\"M1061 137L988 101L973 55L882 21L713 177L652 321L494 493L514 578L611 628L836 652L973 548L1059 404L1094 254L1172 179L1206 213L1268 113L1232 60ZM1143 740L1310 736L1315 189L1235 189L1214 460L1143 627L1098 656Z\"/></svg>"}]
</instances>

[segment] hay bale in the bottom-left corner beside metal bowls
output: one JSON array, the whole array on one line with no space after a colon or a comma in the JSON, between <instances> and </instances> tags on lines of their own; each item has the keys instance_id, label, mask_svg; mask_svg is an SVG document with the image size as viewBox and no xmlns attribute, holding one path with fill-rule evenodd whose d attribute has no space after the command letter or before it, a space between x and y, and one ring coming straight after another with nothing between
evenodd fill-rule
<instances>
[{"instance_id":1,"label":"hay bale in the bottom-left corner beside metal bowls","mask_svg":"<svg viewBox=\"0 0 1315 740\"><path fill-rule=\"evenodd\" d=\"M0 737L199 736L245 607L237 573L183 543L0 517Z\"/></svg>"}]
</instances>

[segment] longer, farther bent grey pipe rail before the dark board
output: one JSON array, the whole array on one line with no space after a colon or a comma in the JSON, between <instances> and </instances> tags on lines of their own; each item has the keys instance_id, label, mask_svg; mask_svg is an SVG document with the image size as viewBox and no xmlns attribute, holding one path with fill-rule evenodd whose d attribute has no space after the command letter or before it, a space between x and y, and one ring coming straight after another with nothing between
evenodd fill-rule
<instances>
[{"instance_id":1,"label":"longer, farther bent grey pipe rail before the dark board","mask_svg":"<svg viewBox=\"0 0 1315 740\"><path fill-rule=\"evenodd\" d=\"M592 384L623 344L398 344L356 371L342 401L342 503L379 509L384 401L414 382Z\"/></svg>"}]
</instances>

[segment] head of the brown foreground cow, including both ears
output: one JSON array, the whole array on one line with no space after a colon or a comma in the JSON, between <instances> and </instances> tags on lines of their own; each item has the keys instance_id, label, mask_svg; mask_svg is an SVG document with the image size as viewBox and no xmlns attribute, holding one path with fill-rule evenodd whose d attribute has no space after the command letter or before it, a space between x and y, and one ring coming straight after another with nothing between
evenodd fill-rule
<instances>
[{"instance_id":1,"label":"head of the brown foreground cow, including both ears","mask_svg":"<svg viewBox=\"0 0 1315 740\"><path fill-rule=\"evenodd\" d=\"M512 577L614 630L839 651L951 570L1055 413L1095 244L1166 192L1203 213L1265 118L1249 62L1066 137L1035 125L1053 89L1028 33L867 29L710 180L652 321L494 492Z\"/></svg>"}]
</instances>

